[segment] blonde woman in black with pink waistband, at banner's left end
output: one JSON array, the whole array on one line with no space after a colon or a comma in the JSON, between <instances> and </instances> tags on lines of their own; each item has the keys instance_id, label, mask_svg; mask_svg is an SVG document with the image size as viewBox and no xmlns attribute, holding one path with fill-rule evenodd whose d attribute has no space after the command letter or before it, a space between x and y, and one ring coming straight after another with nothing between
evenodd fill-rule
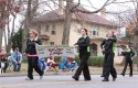
<instances>
[{"instance_id":1,"label":"blonde woman in black with pink waistband, at banner's left end","mask_svg":"<svg viewBox=\"0 0 138 88\"><path fill-rule=\"evenodd\" d=\"M26 50L24 53L24 55L28 54L28 78L25 78L26 80L33 79L33 68L40 75L40 79L43 78L43 72L39 67L39 57L35 50L36 45L42 45L41 40L38 36L39 33L35 30L30 31L30 38L26 42Z\"/></svg>"}]
</instances>

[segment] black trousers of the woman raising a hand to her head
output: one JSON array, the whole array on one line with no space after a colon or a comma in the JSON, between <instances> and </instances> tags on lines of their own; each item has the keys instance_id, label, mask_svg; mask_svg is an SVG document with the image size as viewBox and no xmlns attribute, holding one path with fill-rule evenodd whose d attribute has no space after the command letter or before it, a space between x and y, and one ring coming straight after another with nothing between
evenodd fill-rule
<instances>
[{"instance_id":1,"label":"black trousers of the woman raising a hand to her head","mask_svg":"<svg viewBox=\"0 0 138 88\"><path fill-rule=\"evenodd\" d=\"M114 56L115 54L109 54L109 53L106 53L105 54L105 61L104 61L104 66L105 66L105 79L108 79L109 77L109 74L112 74L113 78L117 78L117 73L116 73L116 69L114 67Z\"/></svg>"}]
</instances>

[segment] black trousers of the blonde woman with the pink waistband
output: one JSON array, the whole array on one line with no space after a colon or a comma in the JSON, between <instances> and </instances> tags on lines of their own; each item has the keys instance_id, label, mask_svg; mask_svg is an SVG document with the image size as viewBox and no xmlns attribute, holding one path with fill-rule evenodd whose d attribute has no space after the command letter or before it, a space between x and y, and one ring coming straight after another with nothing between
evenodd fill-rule
<instances>
[{"instance_id":1,"label":"black trousers of the blonde woman with the pink waistband","mask_svg":"<svg viewBox=\"0 0 138 88\"><path fill-rule=\"evenodd\" d=\"M30 79L33 79L33 68L40 76L43 75L43 72L39 67L38 59L39 57L28 57L28 77Z\"/></svg>"}]
</instances>

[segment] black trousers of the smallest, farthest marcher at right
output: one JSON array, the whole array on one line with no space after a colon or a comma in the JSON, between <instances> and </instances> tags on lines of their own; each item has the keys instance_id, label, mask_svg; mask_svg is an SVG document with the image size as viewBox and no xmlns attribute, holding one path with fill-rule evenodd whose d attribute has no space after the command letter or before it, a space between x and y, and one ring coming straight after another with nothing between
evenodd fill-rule
<instances>
[{"instance_id":1,"label":"black trousers of the smallest, farthest marcher at right","mask_svg":"<svg viewBox=\"0 0 138 88\"><path fill-rule=\"evenodd\" d=\"M123 75L125 75L128 64L129 64L129 68L130 68L129 75L132 76L132 61L131 61L130 57L126 57L126 62L125 62L125 67L124 67L124 70L123 70Z\"/></svg>"}]
</instances>

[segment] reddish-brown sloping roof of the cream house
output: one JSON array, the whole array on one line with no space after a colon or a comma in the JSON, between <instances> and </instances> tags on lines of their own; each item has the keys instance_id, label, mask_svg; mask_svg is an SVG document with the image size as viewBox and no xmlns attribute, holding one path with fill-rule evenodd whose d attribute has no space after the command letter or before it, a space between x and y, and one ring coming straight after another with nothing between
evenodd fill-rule
<instances>
[{"instance_id":1,"label":"reddish-brown sloping roof of the cream house","mask_svg":"<svg viewBox=\"0 0 138 88\"><path fill-rule=\"evenodd\" d=\"M84 9L83 7L77 7L77 9L88 11L88 10ZM65 18L65 14L63 13L62 15L59 15L59 9L56 9L56 10L50 11L43 15L34 18L32 22L35 23L35 22L57 21L57 20L64 20L64 18ZM114 22L112 22L98 14L95 14L95 13L88 14L88 13L75 12L72 14L72 19L85 20L87 22L93 22L96 24L117 26Z\"/></svg>"}]
</instances>

